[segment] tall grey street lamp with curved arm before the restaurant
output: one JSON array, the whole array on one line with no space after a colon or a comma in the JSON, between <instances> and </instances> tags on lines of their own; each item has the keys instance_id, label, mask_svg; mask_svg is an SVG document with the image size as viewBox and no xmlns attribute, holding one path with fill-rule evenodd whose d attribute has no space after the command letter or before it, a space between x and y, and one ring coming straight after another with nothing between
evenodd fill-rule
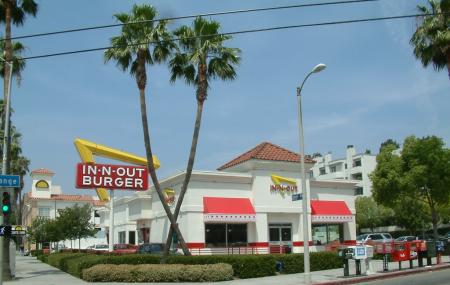
<instances>
[{"instance_id":1,"label":"tall grey street lamp with curved arm before the restaurant","mask_svg":"<svg viewBox=\"0 0 450 285\"><path fill-rule=\"evenodd\" d=\"M313 70L308 73L302 82L300 87L297 87L297 100L298 100L298 126L299 126L299 141L300 141L300 174L302 179L302 212L303 212L303 264L305 272L306 283L310 283L310 266L309 266L309 223L308 223L308 201L309 197L306 192L306 175L305 175L305 141L303 135L303 122L302 122L302 88L306 80L313 73L320 72L326 68L326 65L320 63L316 65Z\"/></svg>"}]
</instances>

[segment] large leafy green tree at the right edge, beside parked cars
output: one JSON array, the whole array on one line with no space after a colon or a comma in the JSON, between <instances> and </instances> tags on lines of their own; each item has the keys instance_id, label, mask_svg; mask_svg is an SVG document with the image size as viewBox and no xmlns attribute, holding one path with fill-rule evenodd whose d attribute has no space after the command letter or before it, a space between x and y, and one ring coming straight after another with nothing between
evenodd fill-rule
<instances>
[{"instance_id":1,"label":"large leafy green tree at the right edge, beside parked cars","mask_svg":"<svg viewBox=\"0 0 450 285\"><path fill-rule=\"evenodd\" d=\"M431 220L437 239L437 226L450 200L450 150L435 136L407 137L401 155L394 150L391 144L377 155L377 166L371 175L373 197L392 208L417 200L417 206L407 208L404 214L425 212L422 221Z\"/></svg>"}]
</instances>

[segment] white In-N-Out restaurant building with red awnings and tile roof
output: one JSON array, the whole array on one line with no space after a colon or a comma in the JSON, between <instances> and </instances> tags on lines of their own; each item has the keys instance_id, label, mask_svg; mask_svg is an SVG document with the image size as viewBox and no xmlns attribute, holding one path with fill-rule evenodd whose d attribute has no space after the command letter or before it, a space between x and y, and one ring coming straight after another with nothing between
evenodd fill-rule
<instances>
[{"instance_id":1,"label":"white In-N-Out restaurant building with red awnings and tile roof","mask_svg":"<svg viewBox=\"0 0 450 285\"><path fill-rule=\"evenodd\" d=\"M314 161L305 162L308 171ZM172 210L184 175L161 181ZM191 252L267 253L280 245L302 252L302 201L292 201L292 194L302 192L300 182L299 156L270 143L256 146L218 171L193 171L178 218ZM354 243L355 183L308 179L306 185L311 250ZM165 242L170 223L153 188L120 203L128 203L128 220L136 222L138 242Z\"/></svg>"}]
</instances>

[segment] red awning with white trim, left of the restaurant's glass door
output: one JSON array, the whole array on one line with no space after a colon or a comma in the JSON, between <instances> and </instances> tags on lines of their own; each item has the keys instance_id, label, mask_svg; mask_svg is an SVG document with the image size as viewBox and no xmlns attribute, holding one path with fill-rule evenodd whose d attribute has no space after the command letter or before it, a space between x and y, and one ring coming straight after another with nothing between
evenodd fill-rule
<instances>
[{"instance_id":1,"label":"red awning with white trim, left of the restaurant's glass door","mask_svg":"<svg viewBox=\"0 0 450 285\"><path fill-rule=\"evenodd\" d=\"M203 197L205 222L254 222L255 209L248 198Z\"/></svg>"}]
</instances>

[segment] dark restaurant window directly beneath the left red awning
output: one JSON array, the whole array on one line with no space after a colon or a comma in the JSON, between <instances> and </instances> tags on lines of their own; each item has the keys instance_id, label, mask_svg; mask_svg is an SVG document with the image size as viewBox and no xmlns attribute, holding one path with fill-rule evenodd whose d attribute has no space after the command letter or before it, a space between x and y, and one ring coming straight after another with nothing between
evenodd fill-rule
<instances>
[{"instance_id":1,"label":"dark restaurant window directly beneath the left red awning","mask_svg":"<svg viewBox=\"0 0 450 285\"><path fill-rule=\"evenodd\" d=\"M205 224L206 247L247 246L247 224Z\"/></svg>"}]
</instances>

